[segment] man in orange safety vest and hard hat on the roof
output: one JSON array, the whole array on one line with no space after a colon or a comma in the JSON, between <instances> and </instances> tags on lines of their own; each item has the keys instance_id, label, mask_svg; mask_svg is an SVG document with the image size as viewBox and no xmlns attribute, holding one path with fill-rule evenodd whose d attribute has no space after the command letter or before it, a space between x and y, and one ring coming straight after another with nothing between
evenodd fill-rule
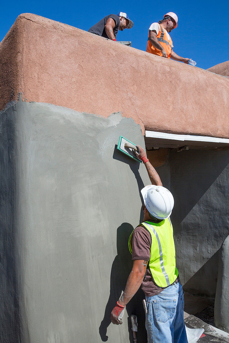
<instances>
[{"instance_id":1,"label":"man in orange safety vest and hard hat on the roof","mask_svg":"<svg viewBox=\"0 0 229 343\"><path fill-rule=\"evenodd\" d=\"M158 23L151 24L149 27L146 51L153 55L162 56L169 59L172 58L175 61L188 64L190 58L178 56L173 51L173 42L169 32L177 27L177 22L177 15L173 12L168 12Z\"/></svg>"}]
</instances>

